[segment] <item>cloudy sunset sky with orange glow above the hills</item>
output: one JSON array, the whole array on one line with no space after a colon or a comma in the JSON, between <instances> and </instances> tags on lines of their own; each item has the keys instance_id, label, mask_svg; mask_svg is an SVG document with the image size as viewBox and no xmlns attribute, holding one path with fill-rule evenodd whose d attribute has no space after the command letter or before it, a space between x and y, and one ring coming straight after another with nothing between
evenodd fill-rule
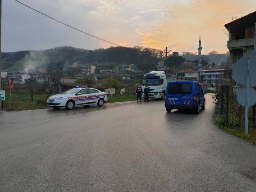
<instances>
[{"instance_id":1,"label":"cloudy sunset sky with orange glow above the hills","mask_svg":"<svg viewBox=\"0 0 256 192\"><path fill-rule=\"evenodd\" d=\"M50 16L124 46L141 45L178 52L227 52L224 24L256 11L255 0L20 0ZM2 51L56 46L84 49L111 44L84 35L14 0L3 0Z\"/></svg>"}]
</instances>

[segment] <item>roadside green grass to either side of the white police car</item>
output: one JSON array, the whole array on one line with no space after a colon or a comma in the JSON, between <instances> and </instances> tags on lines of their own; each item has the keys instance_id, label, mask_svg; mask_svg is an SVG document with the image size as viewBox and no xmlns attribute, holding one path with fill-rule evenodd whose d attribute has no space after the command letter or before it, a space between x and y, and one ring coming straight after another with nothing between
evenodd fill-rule
<instances>
[{"instance_id":1,"label":"roadside green grass to either side of the white police car","mask_svg":"<svg viewBox=\"0 0 256 192\"><path fill-rule=\"evenodd\" d=\"M46 100L44 100L47 97L47 95L48 94L36 93L34 95L33 102L32 102L29 92L14 91L12 92L12 96L11 96L11 108L9 108L10 92L9 91L5 92L5 101L3 101L4 110L11 111L11 110L30 110L30 109L49 108L46 105ZM108 103L132 101L132 100L136 100L136 95L119 95L119 96L108 95Z\"/></svg>"}]
</instances>

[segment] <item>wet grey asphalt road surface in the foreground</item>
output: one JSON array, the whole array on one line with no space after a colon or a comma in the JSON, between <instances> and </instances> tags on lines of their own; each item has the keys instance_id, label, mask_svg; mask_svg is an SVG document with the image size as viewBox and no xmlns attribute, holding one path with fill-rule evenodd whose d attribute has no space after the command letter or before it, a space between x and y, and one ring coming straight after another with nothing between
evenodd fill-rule
<instances>
[{"instance_id":1,"label":"wet grey asphalt road surface in the foreground","mask_svg":"<svg viewBox=\"0 0 256 192\"><path fill-rule=\"evenodd\" d=\"M0 114L1 191L256 191L256 146L163 101Z\"/></svg>"}]
</instances>

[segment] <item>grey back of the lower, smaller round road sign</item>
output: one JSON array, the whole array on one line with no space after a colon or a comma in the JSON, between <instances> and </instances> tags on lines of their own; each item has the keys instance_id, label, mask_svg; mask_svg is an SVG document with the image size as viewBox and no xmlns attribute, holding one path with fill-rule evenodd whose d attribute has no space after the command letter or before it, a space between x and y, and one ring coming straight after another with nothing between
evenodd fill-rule
<instances>
[{"instance_id":1,"label":"grey back of the lower, smaller round road sign","mask_svg":"<svg viewBox=\"0 0 256 192\"><path fill-rule=\"evenodd\" d=\"M239 90L239 92L237 93L236 100L240 105L245 107L245 98L246 98L246 88L244 87L241 90ZM249 88L248 103L249 103L249 107L253 106L256 103L256 91L251 87Z\"/></svg>"}]
</instances>

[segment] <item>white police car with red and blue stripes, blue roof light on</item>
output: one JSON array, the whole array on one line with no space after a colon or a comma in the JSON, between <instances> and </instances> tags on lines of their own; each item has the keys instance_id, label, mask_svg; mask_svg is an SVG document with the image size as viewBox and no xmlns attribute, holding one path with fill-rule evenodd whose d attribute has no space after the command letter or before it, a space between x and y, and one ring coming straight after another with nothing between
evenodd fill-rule
<instances>
[{"instance_id":1,"label":"white police car with red and blue stripes, blue roof light on","mask_svg":"<svg viewBox=\"0 0 256 192\"><path fill-rule=\"evenodd\" d=\"M92 88L76 87L68 91L49 97L47 105L53 108L98 105L102 107L108 101L107 93Z\"/></svg>"}]
</instances>

